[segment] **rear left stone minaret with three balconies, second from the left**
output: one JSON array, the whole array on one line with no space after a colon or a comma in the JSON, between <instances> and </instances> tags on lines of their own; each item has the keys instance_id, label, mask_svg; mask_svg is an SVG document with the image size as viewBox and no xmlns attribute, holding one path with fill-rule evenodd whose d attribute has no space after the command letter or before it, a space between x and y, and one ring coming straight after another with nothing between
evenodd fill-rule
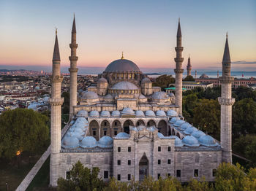
<instances>
[{"instance_id":1,"label":"rear left stone minaret with three balconies, second from the left","mask_svg":"<svg viewBox=\"0 0 256 191\"><path fill-rule=\"evenodd\" d=\"M71 56L69 56L70 61L70 85L69 85L69 118L74 115L74 106L77 105L77 86L78 86L78 68L77 68L77 48L78 44L76 44L76 36L77 31L75 28L75 15L73 20L72 26L72 33L71 33L71 44L69 47L71 49Z\"/></svg>"}]
</instances>

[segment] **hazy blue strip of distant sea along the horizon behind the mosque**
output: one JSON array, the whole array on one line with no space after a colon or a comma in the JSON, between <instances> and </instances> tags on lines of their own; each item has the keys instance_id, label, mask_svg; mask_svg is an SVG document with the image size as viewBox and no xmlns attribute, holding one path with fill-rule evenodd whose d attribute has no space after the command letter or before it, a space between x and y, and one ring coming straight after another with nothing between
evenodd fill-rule
<instances>
[{"instance_id":1,"label":"hazy blue strip of distant sea along the horizon behind the mosque","mask_svg":"<svg viewBox=\"0 0 256 191\"><path fill-rule=\"evenodd\" d=\"M51 72L52 68L50 66L0 66L0 69L26 69L26 70L34 70L34 71L45 71L45 72ZM62 73L69 73L69 67L64 66L61 67ZM78 74L101 74L105 67L79 67L78 66ZM157 77L162 74L168 74L173 75L175 77L174 71L172 68L170 69L148 69L148 68L140 68L143 73L148 74L150 77ZM154 75L150 75L154 74ZM208 77L217 77L217 70L206 70L206 69L197 69L197 77L200 77L200 75L206 74ZM244 74L244 77L242 75ZM187 75L187 70L184 69L184 76ZM249 77L255 77L256 78L256 69L255 71L231 71L231 75L236 78L249 78ZM195 77L195 70L192 70L192 76ZM222 76L222 71L219 70L219 76Z\"/></svg>"}]
</instances>

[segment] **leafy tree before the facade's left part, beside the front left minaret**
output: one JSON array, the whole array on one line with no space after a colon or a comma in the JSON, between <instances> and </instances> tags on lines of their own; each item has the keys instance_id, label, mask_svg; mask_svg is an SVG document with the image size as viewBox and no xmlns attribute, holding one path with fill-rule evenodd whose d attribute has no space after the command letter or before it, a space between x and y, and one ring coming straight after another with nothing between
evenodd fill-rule
<instances>
[{"instance_id":1,"label":"leafy tree before the facade's left part, beside the front left minaret","mask_svg":"<svg viewBox=\"0 0 256 191\"><path fill-rule=\"evenodd\" d=\"M103 190L104 182L98 178L99 168L84 167L78 160L78 163L72 165L70 171L70 179L58 179L59 191L93 191Z\"/></svg>"}]
</instances>

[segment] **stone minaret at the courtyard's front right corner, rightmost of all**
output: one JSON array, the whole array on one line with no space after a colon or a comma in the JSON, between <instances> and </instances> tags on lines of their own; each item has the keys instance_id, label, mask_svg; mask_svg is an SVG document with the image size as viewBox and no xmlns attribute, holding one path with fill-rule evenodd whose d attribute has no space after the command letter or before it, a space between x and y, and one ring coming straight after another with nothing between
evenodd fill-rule
<instances>
[{"instance_id":1,"label":"stone minaret at the courtyard's front right corner, rightmost of all","mask_svg":"<svg viewBox=\"0 0 256 191\"><path fill-rule=\"evenodd\" d=\"M235 99L231 98L231 85L234 77L230 76L230 50L226 36L226 44L222 59L222 77L219 77L222 86L222 96L218 98L221 106L220 142L222 147L222 161L232 163L232 105Z\"/></svg>"}]
</instances>

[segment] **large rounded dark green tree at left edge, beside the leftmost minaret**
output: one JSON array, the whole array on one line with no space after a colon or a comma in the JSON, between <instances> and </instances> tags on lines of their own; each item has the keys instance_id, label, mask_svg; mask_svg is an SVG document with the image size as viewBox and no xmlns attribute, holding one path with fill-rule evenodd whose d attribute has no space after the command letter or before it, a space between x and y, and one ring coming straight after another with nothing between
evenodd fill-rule
<instances>
[{"instance_id":1,"label":"large rounded dark green tree at left edge, beside the leftmost minaret","mask_svg":"<svg viewBox=\"0 0 256 191\"><path fill-rule=\"evenodd\" d=\"M8 110L0 115L0 157L18 151L36 152L48 144L48 117L33 109Z\"/></svg>"}]
</instances>

